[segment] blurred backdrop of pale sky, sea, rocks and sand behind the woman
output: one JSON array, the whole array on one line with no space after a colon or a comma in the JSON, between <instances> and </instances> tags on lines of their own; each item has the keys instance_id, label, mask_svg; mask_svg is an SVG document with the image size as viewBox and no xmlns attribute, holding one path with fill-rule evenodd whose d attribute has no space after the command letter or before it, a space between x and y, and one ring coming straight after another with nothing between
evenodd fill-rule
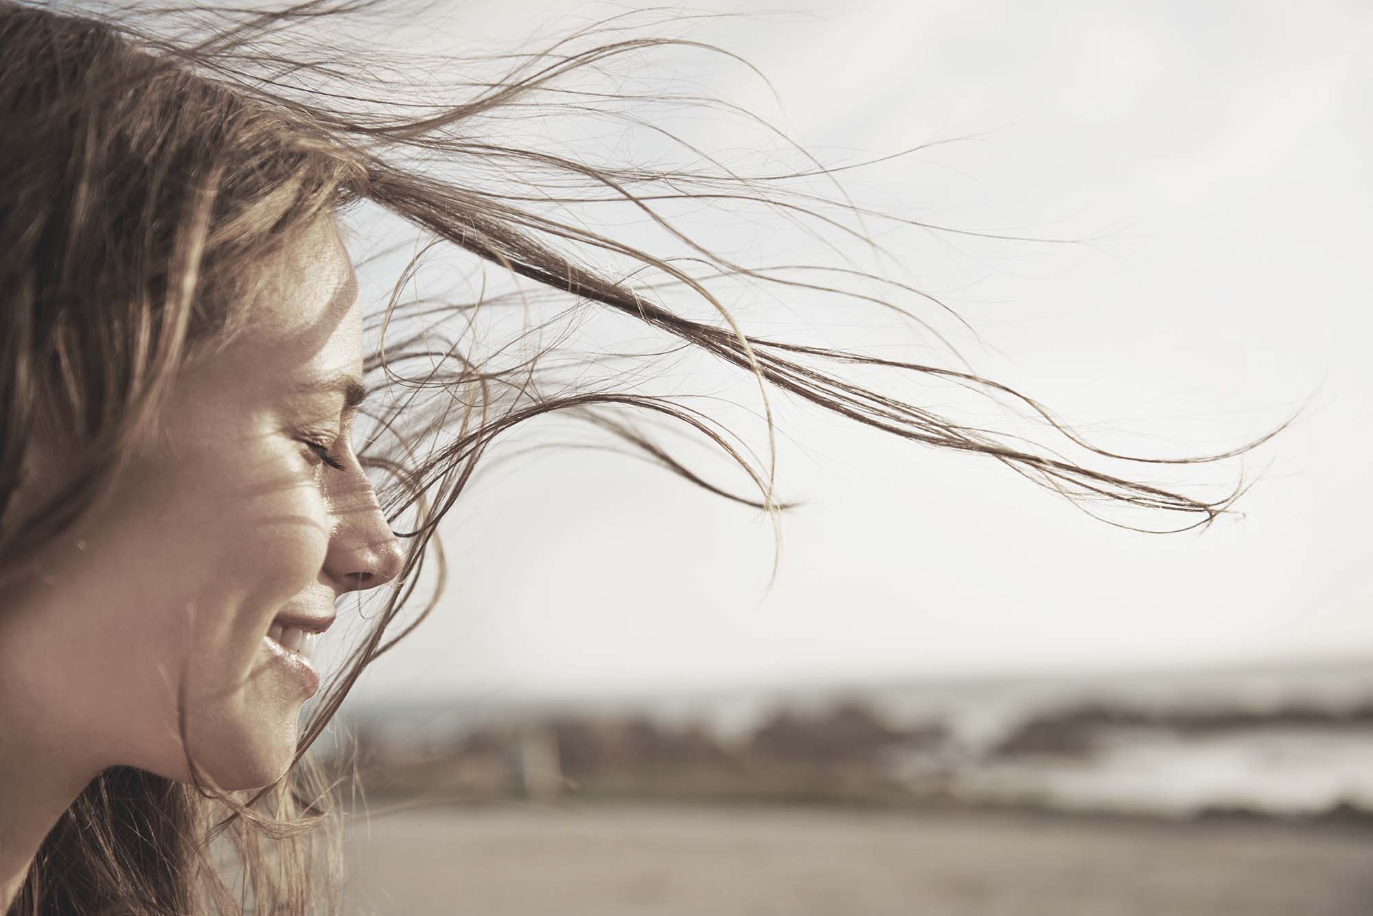
<instances>
[{"instance_id":1,"label":"blurred backdrop of pale sky, sea, rocks and sand behind the woman","mask_svg":"<svg viewBox=\"0 0 1373 916\"><path fill-rule=\"evenodd\" d=\"M685 18L702 11L739 15ZM1368 4L438 3L376 40L509 51L616 14L755 64L770 86L691 49L643 66L827 165L923 147L846 189L1005 237L881 224L899 259L876 267L1093 443L1215 454L1300 414L1159 477L1255 485L1215 525L1157 535L780 400L780 495L800 502L780 547L761 513L644 462L530 450L566 433L533 425L445 522L439 607L319 745L361 787L349 912L1373 909ZM747 133L671 126L759 166ZM647 130L544 128L666 155ZM678 217L758 259L822 256L729 213ZM654 239L634 218L621 237ZM395 269L369 263L364 288L384 296ZM879 309L735 304L751 330L938 350ZM644 384L737 409L762 447L735 376Z\"/></svg>"}]
</instances>

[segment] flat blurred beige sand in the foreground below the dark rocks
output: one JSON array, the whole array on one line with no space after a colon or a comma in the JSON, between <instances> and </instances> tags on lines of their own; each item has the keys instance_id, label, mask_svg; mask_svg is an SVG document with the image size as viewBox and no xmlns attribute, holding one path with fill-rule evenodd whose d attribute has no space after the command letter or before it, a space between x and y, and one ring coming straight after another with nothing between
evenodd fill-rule
<instances>
[{"instance_id":1,"label":"flat blurred beige sand in the foreground below the dark rocks","mask_svg":"<svg viewBox=\"0 0 1373 916\"><path fill-rule=\"evenodd\" d=\"M406 810L349 831L351 916L1363 916L1373 832L997 812Z\"/></svg>"}]
</instances>

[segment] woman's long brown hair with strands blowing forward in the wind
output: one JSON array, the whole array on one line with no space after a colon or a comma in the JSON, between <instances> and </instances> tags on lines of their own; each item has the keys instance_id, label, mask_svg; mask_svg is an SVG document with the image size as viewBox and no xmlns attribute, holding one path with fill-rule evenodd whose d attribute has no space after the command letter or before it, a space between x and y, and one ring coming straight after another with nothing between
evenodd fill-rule
<instances>
[{"instance_id":1,"label":"woman's long brown hair with strands blowing forward in the wind","mask_svg":"<svg viewBox=\"0 0 1373 916\"><path fill-rule=\"evenodd\" d=\"M913 443L995 459L1083 506L1119 503L1182 518L1171 527L1179 531L1226 511L1243 480L1221 499L1188 496L939 415L859 384L850 370L927 377L1017 405L1100 458L1212 462L1273 435L1221 455L1131 458L1092 446L1038 402L971 369L746 333L724 304L729 284L902 311L895 295L923 295L849 267L736 263L663 215L682 200L748 203L822 236L861 236L831 214L855 222L880 214L846 204L839 191L824 199L792 189L794 180L831 180L833 170L813 163L744 176L706 154L693 167L655 170L582 160L552 143L514 144L503 130L501 118L518 121L535 108L633 121L621 106L629 95L578 91L568 81L693 43L599 23L537 53L486 60L504 66L500 80L435 81L431 97L420 99L416 86L376 75L386 62L312 48L299 37L325 16L371 5L310 0L211 19L185 7L78 15L0 0L0 584L36 575L41 547L110 491L178 369L251 322L254 277L262 273L255 269L317 219L364 203L427 233L431 247L533 281L505 302L526 310L603 307L643 322L662 351L703 354L751 376L769 439L768 395L787 392ZM680 256L651 254L577 215L579 206L611 202L651 221ZM773 518L785 507L774 495L770 450L755 458L682 399L627 385L578 388L567 377L541 384L552 348L508 365L478 358L459 332L479 325L479 303L401 304L415 263L372 324L382 343L365 361L369 384L393 398L369 409L376 435L360 450L364 466L384 479L378 495L406 539L405 566L316 703L292 773L251 794L133 768L102 773L44 842L10 916L334 912L331 871L313 864L338 861L331 786L306 750L362 668L434 607L442 588L438 522L482 455L516 425L563 411L706 490ZM496 298L483 307L492 304ZM689 469L649 433L660 418L724 450L752 492L732 492ZM33 484L40 442L62 457L59 472L47 466L41 499L18 499L21 484ZM427 559L439 584L413 618L389 629L413 599ZM238 891L218 858L225 845Z\"/></svg>"}]
</instances>

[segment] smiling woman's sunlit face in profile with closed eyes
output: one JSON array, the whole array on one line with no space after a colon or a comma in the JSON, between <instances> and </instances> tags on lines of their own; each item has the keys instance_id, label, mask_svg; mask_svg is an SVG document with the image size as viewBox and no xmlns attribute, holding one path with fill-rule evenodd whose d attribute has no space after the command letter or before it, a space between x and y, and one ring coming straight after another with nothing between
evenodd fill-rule
<instances>
[{"instance_id":1,"label":"smiling woman's sunlit face in profile with closed eyes","mask_svg":"<svg viewBox=\"0 0 1373 916\"><path fill-rule=\"evenodd\" d=\"M58 539L4 624L7 692L91 775L187 779L181 694L189 751L220 786L276 780L317 688L281 623L327 623L339 594L400 570L350 447L361 315L332 221L279 267L250 329L187 366L114 499Z\"/></svg>"}]
</instances>

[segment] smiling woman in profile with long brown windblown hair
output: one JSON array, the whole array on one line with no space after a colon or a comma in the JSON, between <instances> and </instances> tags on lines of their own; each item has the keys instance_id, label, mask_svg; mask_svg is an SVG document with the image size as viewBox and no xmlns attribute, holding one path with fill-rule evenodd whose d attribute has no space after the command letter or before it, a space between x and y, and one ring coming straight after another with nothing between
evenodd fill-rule
<instances>
[{"instance_id":1,"label":"smiling woman in profile with long brown windblown hair","mask_svg":"<svg viewBox=\"0 0 1373 916\"><path fill-rule=\"evenodd\" d=\"M546 100L568 74L670 41L595 44L589 29L581 44L515 58L501 81L397 115L362 89L321 88L339 73L336 52L279 44L349 5L243 14L209 32L183 11L172 40L159 18L0 0L0 887L12 916L332 911L336 873L316 867L338 861L330 791L305 751L358 672L417 623L387 634L438 550L438 521L493 439L520 421L573 411L714 492L781 507L768 462L755 466L708 418L643 394L549 395L537 359L496 366L437 346L453 313L405 311L393 296L367 352L339 222L356 203L751 373L765 405L781 389L997 458L1071 498L1195 524L1237 495L1204 502L1039 454L836 367L1019 398L1079 446L1123 458L971 373L747 336L715 293L724 281L870 296L814 273L751 272L654 206L725 195L839 226L814 197L778 189L777 176L615 169L481 138L483 119ZM435 163L514 170L527 197ZM566 196L573 182L595 191ZM534 204L597 199L649 214L691 261ZM616 281L560 245L637 265L655 282L632 288L627 269ZM713 317L671 307L684 293ZM471 310L456 317L471 326ZM630 425L630 410L707 436L757 496L697 477ZM358 417L375 435L354 450ZM1152 461L1216 461L1255 444ZM320 687L310 654L335 601L373 588L384 610L298 727Z\"/></svg>"}]
</instances>

